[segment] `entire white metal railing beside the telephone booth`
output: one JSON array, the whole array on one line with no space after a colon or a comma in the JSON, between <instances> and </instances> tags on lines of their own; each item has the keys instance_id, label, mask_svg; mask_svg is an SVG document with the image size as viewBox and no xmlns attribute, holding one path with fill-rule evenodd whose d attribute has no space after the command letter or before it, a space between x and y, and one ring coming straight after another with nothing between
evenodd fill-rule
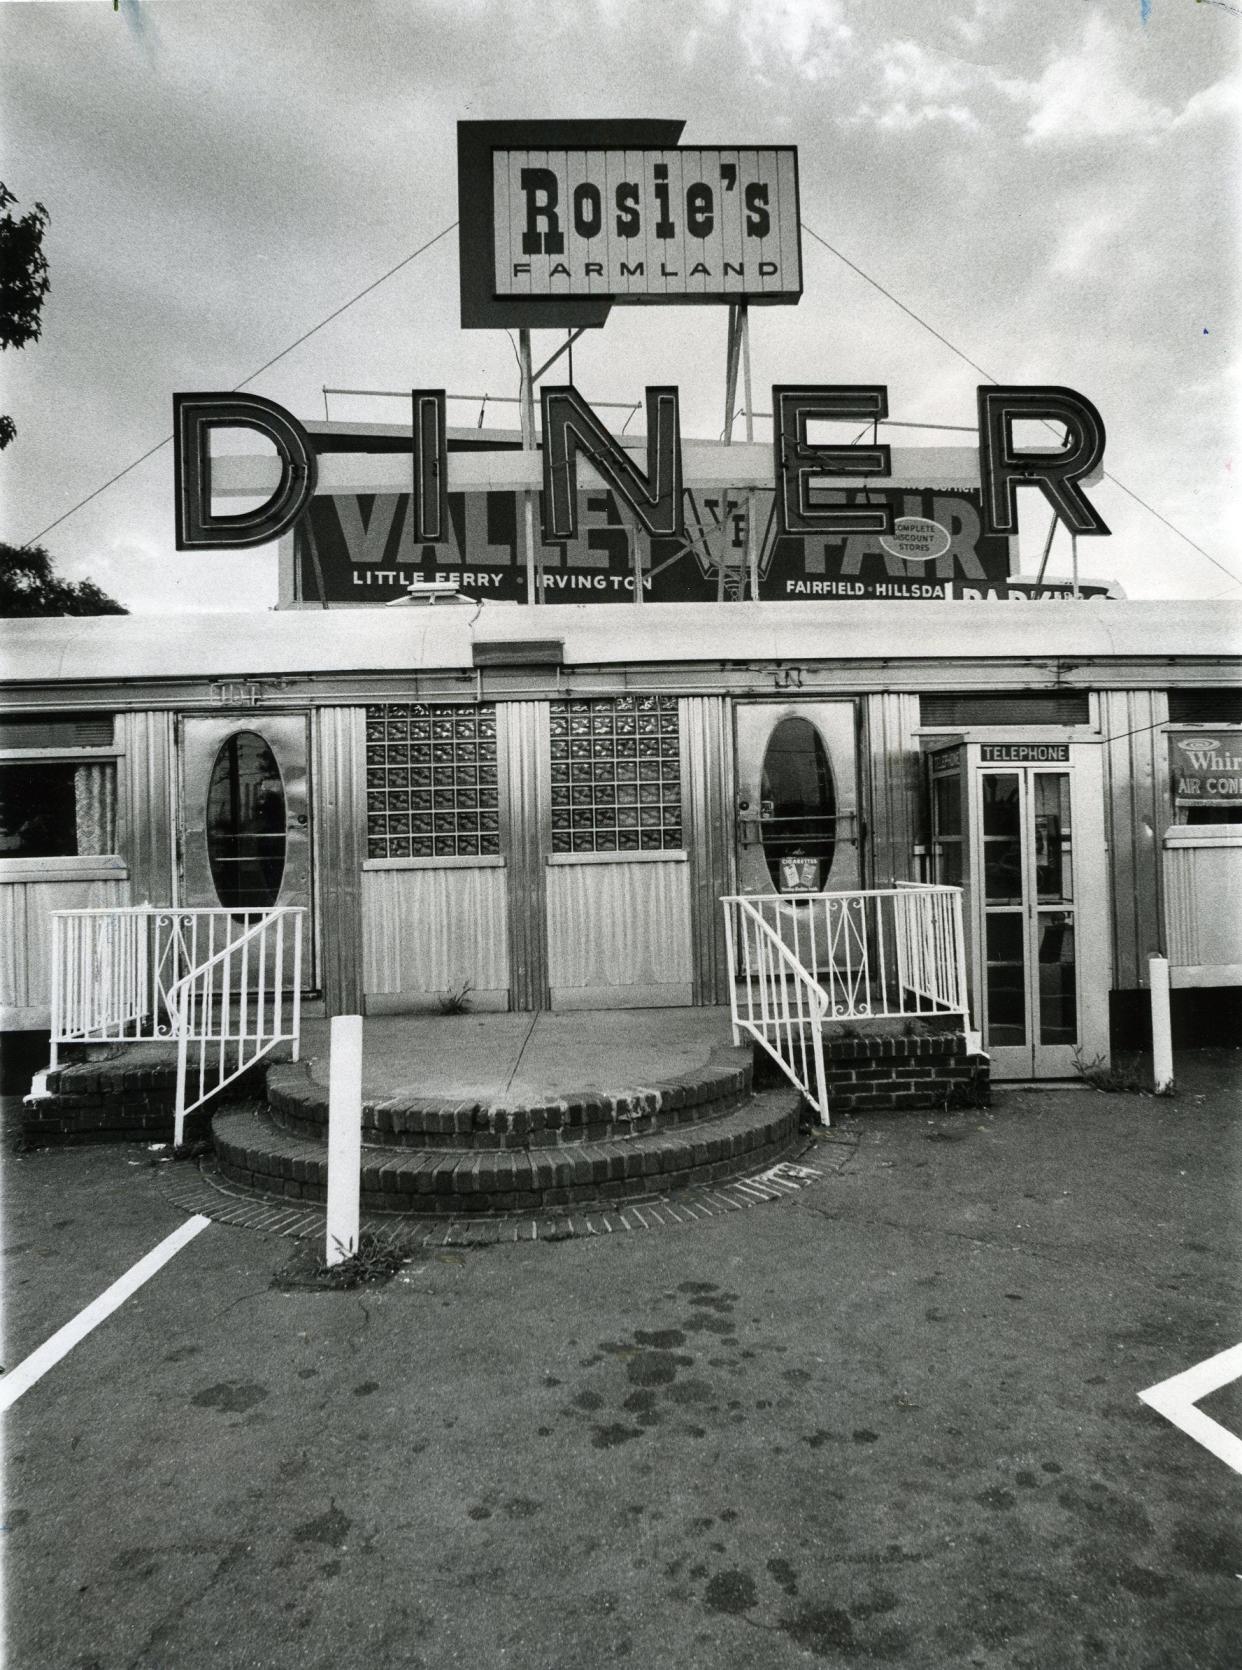
<instances>
[{"instance_id":1,"label":"entire white metal railing beside the telephone booth","mask_svg":"<svg viewBox=\"0 0 1242 1670\"><path fill-rule=\"evenodd\" d=\"M748 893L724 897L721 907L730 969L738 972L735 1040L746 1032L763 1044L825 1124L825 1020L960 1015L973 1040L960 887L901 882L845 893Z\"/></svg>"}]
</instances>

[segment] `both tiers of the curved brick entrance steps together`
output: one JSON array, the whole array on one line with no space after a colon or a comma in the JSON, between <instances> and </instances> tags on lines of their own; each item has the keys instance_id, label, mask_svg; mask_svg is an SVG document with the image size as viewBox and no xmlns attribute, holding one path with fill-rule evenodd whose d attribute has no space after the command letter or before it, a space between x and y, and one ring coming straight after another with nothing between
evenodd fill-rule
<instances>
[{"instance_id":1,"label":"both tiers of the curved brick entrance steps together","mask_svg":"<svg viewBox=\"0 0 1242 1670\"><path fill-rule=\"evenodd\" d=\"M801 1099L788 1087L751 1094L750 1064L740 1052L723 1055L694 1075L616 1097L372 1102L362 1207L477 1216L641 1201L775 1164L800 1146ZM324 1134L322 1087L297 1069L270 1075L267 1107L232 1106L212 1121L220 1176L292 1201L327 1197Z\"/></svg>"}]
</instances>

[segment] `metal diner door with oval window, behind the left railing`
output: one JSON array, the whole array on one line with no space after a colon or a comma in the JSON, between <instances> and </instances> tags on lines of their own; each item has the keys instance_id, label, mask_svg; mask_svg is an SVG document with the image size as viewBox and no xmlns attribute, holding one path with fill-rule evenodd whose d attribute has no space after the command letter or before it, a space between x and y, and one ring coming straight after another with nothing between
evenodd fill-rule
<instances>
[{"instance_id":1,"label":"metal diner door with oval window, behind the left railing","mask_svg":"<svg viewBox=\"0 0 1242 1670\"><path fill-rule=\"evenodd\" d=\"M229 912L304 907L302 985L312 985L307 715L184 715L177 743L177 903Z\"/></svg>"}]
</instances>

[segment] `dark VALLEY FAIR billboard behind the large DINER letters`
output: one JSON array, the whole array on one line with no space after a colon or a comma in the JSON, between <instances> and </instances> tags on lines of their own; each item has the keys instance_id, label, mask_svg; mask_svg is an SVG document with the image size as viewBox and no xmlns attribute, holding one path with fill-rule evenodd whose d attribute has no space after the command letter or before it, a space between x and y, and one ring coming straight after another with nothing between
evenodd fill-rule
<instances>
[{"instance_id":1,"label":"dark VALLEY FAIR billboard behind the large DINER letters","mask_svg":"<svg viewBox=\"0 0 1242 1670\"><path fill-rule=\"evenodd\" d=\"M778 534L775 494L753 493L763 601L1023 600L1030 579L1010 576L1010 541L985 534L977 489L840 493L843 503L893 511L891 534ZM544 603L626 603L634 598L634 558L651 603L736 601L748 596L748 526L743 489L683 489L684 536L649 538L623 514L614 493L578 498L571 539L539 548ZM447 539L417 544L411 494L322 493L292 544L299 603L391 603L416 579L457 581L474 598L526 603L526 563L516 493L449 493ZM1042 596L1067 596L1068 581ZM1107 596L1100 583L1082 596Z\"/></svg>"}]
</instances>

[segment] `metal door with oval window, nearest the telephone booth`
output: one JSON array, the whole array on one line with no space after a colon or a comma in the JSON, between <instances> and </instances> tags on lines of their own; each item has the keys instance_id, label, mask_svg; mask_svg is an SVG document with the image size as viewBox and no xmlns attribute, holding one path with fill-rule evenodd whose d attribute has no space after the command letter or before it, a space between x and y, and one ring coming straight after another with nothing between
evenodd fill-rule
<instances>
[{"instance_id":1,"label":"metal door with oval window, nearest the telephone booth","mask_svg":"<svg viewBox=\"0 0 1242 1670\"><path fill-rule=\"evenodd\" d=\"M806 960L798 893L861 887L855 705L740 701L735 725L738 892L786 895L783 937Z\"/></svg>"}]
</instances>

